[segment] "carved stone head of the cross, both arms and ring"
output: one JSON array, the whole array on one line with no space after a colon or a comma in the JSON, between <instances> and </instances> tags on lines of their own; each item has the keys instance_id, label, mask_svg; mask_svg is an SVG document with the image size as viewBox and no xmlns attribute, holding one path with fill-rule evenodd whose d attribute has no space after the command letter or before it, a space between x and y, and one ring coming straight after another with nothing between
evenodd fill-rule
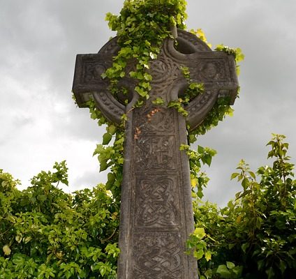
<instances>
[{"instance_id":1,"label":"carved stone head of the cross, both arms and ring","mask_svg":"<svg viewBox=\"0 0 296 279\"><path fill-rule=\"evenodd\" d=\"M117 37L114 37L98 54L78 54L73 83L73 92L79 107L85 107L87 100L93 96L106 118L118 124L121 122L121 116L131 110L139 97L134 91L135 80L129 75L119 84L128 90L128 96L119 93L118 100L108 91L108 80L101 78L101 74L112 66L112 57L116 56L119 50ZM177 46L174 39L166 39L161 54L157 59L151 60L150 64L149 73L153 77L151 85L170 91L164 96L166 103L177 99L188 86L188 81L182 74L182 67L190 69L192 82L204 84L205 93L191 100L185 107L188 112L186 121L191 129L201 123L217 98L228 96L230 105L235 101L238 82L233 57L224 52L213 52L192 33L178 29ZM133 61L128 63L126 73L133 70L134 66ZM149 94L153 97L154 90ZM129 100L128 105L124 105L126 98Z\"/></svg>"}]
</instances>

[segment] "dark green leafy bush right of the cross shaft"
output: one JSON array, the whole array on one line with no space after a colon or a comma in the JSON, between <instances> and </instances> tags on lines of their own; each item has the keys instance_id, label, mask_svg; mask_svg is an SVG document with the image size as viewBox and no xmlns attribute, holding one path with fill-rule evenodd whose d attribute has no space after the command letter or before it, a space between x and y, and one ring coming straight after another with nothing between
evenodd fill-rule
<instances>
[{"instance_id":1,"label":"dark green leafy bush right of the cross shaft","mask_svg":"<svg viewBox=\"0 0 296 279\"><path fill-rule=\"evenodd\" d=\"M225 208L195 195L195 227L205 234L198 239L194 233L188 246L198 255L200 278L293 278L296 180L284 138L273 135L267 144L272 166L255 173L243 160L239 163L231 179L242 190Z\"/></svg>"}]
</instances>

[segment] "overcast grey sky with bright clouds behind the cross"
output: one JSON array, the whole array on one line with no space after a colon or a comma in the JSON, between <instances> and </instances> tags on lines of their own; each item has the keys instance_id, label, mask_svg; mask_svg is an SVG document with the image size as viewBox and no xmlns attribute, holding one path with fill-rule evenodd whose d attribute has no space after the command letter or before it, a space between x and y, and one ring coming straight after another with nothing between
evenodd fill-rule
<instances>
[{"instance_id":1,"label":"overcast grey sky with bright clouds behind the cross","mask_svg":"<svg viewBox=\"0 0 296 279\"><path fill-rule=\"evenodd\" d=\"M105 182L92 157L103 128L77 108L75 55L96 53L115 36L105 13L124 0L0 0L0 168L29 186L41 169L66 160L74 191ZM239 160L267 163L271 133L287 136L296 158L296 1L188 0L188 29L202 28L213 47L241 47L235 114L200 137L218 154L206 197L225 205L240 190L230 181Z\"/></svg>"}]
</instances>

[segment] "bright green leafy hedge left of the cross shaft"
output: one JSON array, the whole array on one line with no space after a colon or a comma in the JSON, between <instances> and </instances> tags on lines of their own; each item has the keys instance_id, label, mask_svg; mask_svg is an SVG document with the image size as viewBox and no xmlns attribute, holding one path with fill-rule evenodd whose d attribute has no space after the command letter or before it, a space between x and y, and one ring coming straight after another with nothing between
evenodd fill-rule
<instances>
[{"instance_id":1,"label":"bright green leafy hedge left of the cross shaft","mask_svg":"<svg viewBox=\"0 0 296 279\"><path fill-rule=\"evenodd\" d=\"M0 278L116 278L119 204L99 184L66 194L65 162L26 190L0 171Z\"/></svg>"}]
</instances>

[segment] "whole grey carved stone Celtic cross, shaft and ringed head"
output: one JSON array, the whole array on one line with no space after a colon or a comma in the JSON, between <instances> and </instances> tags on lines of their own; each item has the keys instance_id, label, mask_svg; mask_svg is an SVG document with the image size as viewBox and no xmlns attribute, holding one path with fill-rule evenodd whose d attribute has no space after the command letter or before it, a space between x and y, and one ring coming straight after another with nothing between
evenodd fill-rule
<instances>
[{"instance_id":1,"label":"whole grey carved stone Celtic cross, shaft and ringed head","mask_svg":"<svg viewBox=\"0 0 296 279\"><path fill-rule=\"evenodd\" d=\"M189 163L179 147L187 144L186 122L196 128L219 97L228 96L233 104L238 82L233 56L213 52L191 33L177 33L177 47L174 40L165 39L161 54L150 61L150 98L142 107L133 108L138 93L128 73L134 63L126 67L126 77L119 84L128 89L128 105L115 99L108 79L101 78L119 51L116 37L98 54L78 54L76 59L73 92L79 107L94 98L110 122L119 124L121 116L127 115L119 279L198 278L196 260L185 253L194 223ZM188 86L182 67L189 69L193 82L205 85L204 93L184 107L186 119L174 108L153 103L162 98L168 104L182 96Z\"/></svg>"}]
</instances>

